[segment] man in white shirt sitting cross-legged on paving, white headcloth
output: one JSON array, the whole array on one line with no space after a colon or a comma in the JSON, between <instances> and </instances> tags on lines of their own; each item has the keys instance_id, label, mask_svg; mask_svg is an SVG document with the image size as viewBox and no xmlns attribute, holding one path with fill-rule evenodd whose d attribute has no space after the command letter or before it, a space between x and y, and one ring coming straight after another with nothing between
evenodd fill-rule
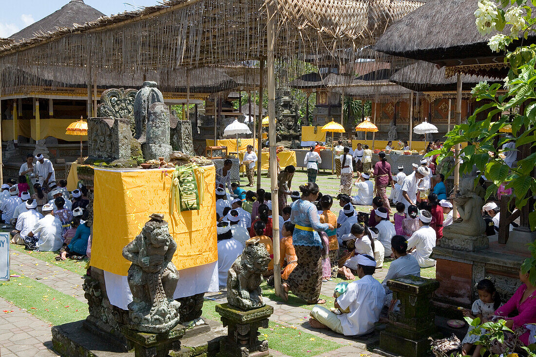
<instances>
[{"instance_id":1,"label":"man in white shirt sitting cross-legged on paving, white headcloth","mask_svg":"<svg viewBox=\"0 0 536 357\"><path fill-rule=\"evenodd\" d=\"M370 255L358 256L359 280L348 284L347 291L335 302L335 308L349 309L349 313L337 315L325 307L316 305L311 310L309 323L315 329L331 329L341 335L367 335L374 332L385 301L385 290L373 278L376 262ZM334 295L335 296L335 295ZM368 336L363 336L368 337Z\"/></svg>"}]
</instances>

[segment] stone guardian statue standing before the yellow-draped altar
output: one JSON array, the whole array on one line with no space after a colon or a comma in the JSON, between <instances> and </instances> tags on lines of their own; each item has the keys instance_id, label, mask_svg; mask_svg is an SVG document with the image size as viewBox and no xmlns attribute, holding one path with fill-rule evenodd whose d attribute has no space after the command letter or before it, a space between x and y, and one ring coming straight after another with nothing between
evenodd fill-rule
<instances>
[{"instance_id":1,"label":"stone guardian statue standing before the yellow-draped altar","mask_svg":"<svg viewBox=\"0 0 536 357\"><path fill-rule=\"evenodd\" d=\"M132 292L129 323L132 330L166 333L179 320L180 303L173 300L178 271L172 263L177 245L170 236L163 215L153 214L142 232L123 248L132 262L128 282Z\"/></svg>"}]
</instances>

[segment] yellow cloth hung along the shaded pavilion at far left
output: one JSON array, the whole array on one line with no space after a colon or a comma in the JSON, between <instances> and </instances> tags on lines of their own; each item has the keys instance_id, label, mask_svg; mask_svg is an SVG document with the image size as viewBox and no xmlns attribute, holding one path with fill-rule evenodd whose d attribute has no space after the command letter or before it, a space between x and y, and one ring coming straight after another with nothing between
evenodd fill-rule
<instances>
[{"instance_id":1,"label":"yellow cloth hung along the shaded pavilion at far left","mask_svg":"<svg viewBox=\"0 0 536 357\"><path fill-rule=\"evenodd\" d=\"M65 141L80 142L80 135L65 134L65 129L77 119L40 119L41 139L48 136ZM35 119L19 119L19 135L36 140ZM13 120L2 120L2 140L13 140ZM87 135L82 136L82 141L87 141Z\"/></svg>"}]
</instances>

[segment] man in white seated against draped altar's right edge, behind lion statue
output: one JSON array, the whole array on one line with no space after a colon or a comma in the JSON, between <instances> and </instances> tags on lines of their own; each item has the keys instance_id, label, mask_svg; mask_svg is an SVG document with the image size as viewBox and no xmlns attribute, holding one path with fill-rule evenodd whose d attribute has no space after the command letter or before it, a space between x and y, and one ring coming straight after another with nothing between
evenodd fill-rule
<instances>
[{"instance_id":1,"label":"man in white seated against draped altar's right edge, behind lion statue","mask_svg":"<svg viewBox=\"0 0 536 357\"><path fill-rule=\"evenodd\" d=\"M218 282L220 286L227 286L227 272L242 254L242 244L233 239L229 222L220 222L216 227L218 233Z\"/></svg>"}]
</instances>

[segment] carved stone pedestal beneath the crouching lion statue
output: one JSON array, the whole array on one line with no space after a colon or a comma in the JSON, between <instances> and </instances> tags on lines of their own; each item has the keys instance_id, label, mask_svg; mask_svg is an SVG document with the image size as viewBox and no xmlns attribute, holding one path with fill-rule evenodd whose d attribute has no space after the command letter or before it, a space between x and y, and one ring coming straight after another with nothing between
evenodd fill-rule
<instances>
[{"instance_id":1,"label":"carved stone pedestal beneath the crouching lion statue","mask_svg":"<svg viewBox=\"0 0 536 357\"><path fill-rule=\"evenodd\" d=\"M270 356L268 341L258 339L258 330L268 327L268 318L273 314L272 306L244 311L224 303L216 306L216 312L221 315L224 326L227 326L227 338L220 342L221 355Z\"/></svg>"}]
</instances>

